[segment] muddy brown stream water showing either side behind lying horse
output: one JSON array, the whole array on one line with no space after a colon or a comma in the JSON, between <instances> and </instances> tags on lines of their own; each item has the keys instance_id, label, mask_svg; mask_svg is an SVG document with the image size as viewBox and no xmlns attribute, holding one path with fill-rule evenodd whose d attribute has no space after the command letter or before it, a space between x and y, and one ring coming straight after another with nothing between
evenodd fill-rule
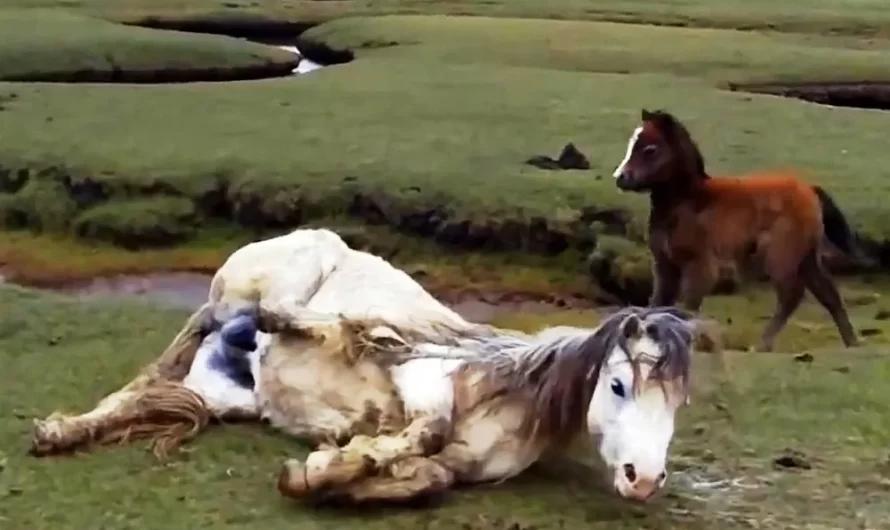
<instances>
[{"instance_id":1,"label":"muddy brown stream water showing either side behind lying horse","mask_svg":"<svg viewBox=\"0 0 890 530\"><path fill-rule=\"evenodd\" d=\"M162 307L193 310L207 301L207 292L210 289L212 278L209 274L194 272L122 274L97 277L46 290L64 293L83 300L136 297ZM4 281L5 278L0 270L0 283ZM530 296L517 293L445 292L433 294L463 318L479 323L491 322L505 313L550 313L566 307L577 307L582 303L580 300L535 300Z\"/></svg>"}]
</instances>

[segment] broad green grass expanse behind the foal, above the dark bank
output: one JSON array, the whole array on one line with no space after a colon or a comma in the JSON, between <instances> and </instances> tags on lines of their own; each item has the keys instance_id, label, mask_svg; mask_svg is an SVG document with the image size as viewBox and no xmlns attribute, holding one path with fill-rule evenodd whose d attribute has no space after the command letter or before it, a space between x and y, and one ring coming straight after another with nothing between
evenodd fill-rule
<instances>
[{"instance_id":1,"label":"broad green grass expanse behind the foal, above the dark bank","mask_svg":"<svg viewBox=\"0 0 890 530\"><path fill-rule=\"evenodd\" d=\"M715 90L839 71L886 78L887 41L416 17L332 22L310 37L373 49L299 80L0 85L0 161L49 167L38 180L98 183L112 202L161 194L206 204L222 193L248 226L344 215L361 192L392 225L437 208L453 223L510 220L530 233L539 216L573 240L589 230L579 218L590 205L631 211L629 231L641 232L645 200L603 176L639 108L665 107L692 128L713 172L799 169L836 195L857 228L888 236L876 168L886 165L890 118ZM402 45L379 48L390 42ZM590 155L591 171L523 164L567 141Z\"/></svg>"}]
</instances>

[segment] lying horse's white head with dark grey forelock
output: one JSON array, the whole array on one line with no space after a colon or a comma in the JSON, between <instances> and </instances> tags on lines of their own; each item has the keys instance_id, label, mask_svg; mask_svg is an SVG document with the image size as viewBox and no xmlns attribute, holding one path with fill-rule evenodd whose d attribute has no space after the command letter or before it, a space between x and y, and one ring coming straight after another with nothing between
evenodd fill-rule
<instances>
[{"instance_id":1,"label":"lying horse's white head with dark grey forelock","mask_svg":"<svg viewBox=\"0 0 890 530\"><path fill-rule=\"evenodd\" d=\"M647 500L667 479L674 415L689 401L692 322L674 308L629 308L597 331L608 351L587 426L622 497Z\"/></svg>"}]
</instances>

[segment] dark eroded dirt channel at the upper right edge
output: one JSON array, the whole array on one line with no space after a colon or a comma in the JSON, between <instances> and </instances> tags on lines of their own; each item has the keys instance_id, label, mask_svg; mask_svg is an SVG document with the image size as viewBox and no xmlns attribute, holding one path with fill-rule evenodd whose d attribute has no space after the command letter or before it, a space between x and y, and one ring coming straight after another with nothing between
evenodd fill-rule
<instances>
[{"instance_id":1,"label":"dark eroded dirt channel at the upper right edge","mask_svg":"<svg viewBox=\"0 0 890 530\"><path fill-rule=\"evenodd\" d=\"M731 84L730 90L797 98L832 107L890 110L890 83Z\"/></svg>"}]
</instances>

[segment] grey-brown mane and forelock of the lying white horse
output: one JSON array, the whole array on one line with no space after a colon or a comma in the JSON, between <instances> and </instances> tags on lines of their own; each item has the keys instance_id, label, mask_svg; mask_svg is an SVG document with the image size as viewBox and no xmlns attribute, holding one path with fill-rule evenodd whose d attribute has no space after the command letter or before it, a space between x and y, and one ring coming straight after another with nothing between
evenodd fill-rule
<instances>
[{"instance_id":1,"label":"grey-brown mane and forelock of the lying white horse","mask_svg":"<svg viewBox=\"0 0 890 530\"><path fill-rule=\"evenodd\" d=\"M661 356L657 359L630 358L624 323L631 316L640 319L640 332L658 344ZM507 376L510 390L531 394L534 410L523 426L526 434L557 441L568 441L576 434L584 425L602 367L616 347L635 366L651 364L649 379L680 380L685 390L695 338L692 318L691 313L673 307L626 307L606 317L592 333L578 330L517 352L512 369L501 375Z\"/></svg>"}]
</instances>

